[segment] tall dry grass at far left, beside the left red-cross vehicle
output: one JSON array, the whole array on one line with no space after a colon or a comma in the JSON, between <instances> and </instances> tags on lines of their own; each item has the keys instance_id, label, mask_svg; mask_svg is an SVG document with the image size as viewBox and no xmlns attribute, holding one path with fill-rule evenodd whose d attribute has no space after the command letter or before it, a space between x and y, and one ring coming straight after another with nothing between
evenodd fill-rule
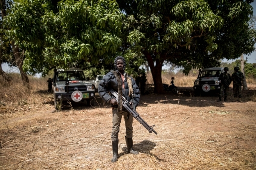
<instances>
[{"instance_id":1,"label":"tall dry grass at far left, beside the left red-cross vehicle","mask_svg":"<svg viewBox=\"0 0 256 170\"><path fill-rule=\"evenodd\" d=\"M12 73L11 82L6 82L0 77L0 101L4 103L38 103L42 98L49 98L47 95L47 78L29 76L31 89L29 90L21 80L20 74ZM41 101L40 101L41 102Z\"/></svg>"}]
</instances>

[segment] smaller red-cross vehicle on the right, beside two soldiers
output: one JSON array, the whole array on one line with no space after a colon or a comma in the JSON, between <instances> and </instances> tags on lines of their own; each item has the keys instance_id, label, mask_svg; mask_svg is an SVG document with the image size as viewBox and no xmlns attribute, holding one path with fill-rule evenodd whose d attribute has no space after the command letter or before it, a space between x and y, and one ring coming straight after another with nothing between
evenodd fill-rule
<instances>
[{"instance_id":1,"label":"smaller red-cross vehicle on the right, beside two soldiers","mask_svg":"<svg viewBox=\"0 0 256 170\"><path fill-rule=\"evenodd\" d=\"M204 68L199 70L198 78L194 82L195 96L200 96L201 93L220 91L220 80L218 80L221 73L224 72L224 68Z\"/></svg>"}]
</instances>

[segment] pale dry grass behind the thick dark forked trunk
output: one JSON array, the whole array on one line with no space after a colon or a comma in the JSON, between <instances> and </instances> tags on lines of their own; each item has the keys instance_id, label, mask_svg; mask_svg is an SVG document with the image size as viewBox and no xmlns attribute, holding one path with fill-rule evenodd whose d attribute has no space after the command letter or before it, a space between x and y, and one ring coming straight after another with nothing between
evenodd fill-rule
<instances>
[{"instance_id":1,"label":"pale dry grass behind the thick dark forked trunk","mask_svg":"<svg viewBox=\"0 0 256 170\"><path fill-rule=\"evenodd\" d=\"M162 73L162 82L164 84L171 84L172 77L175 78L174 84L178 87L186 87L186 86L193 86L195 79L197 79L197 75L195 74L189 74L188 76L185 76L184 74L178 72L176 74L174 73L168 73L164 72ZM154 84L153 77L151 72L149 71L147 73L147 84Z\"/></svg>"}]
</instances>

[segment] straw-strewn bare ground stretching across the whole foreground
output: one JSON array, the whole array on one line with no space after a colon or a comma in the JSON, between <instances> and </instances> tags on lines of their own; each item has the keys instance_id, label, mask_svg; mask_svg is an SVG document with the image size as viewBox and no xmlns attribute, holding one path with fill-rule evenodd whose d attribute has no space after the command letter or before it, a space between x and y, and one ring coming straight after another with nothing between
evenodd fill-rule
<instances>
[{"instance_id":1,"label":"straw-strewn bare ground stretching across the whole foreground","mask_svg":"<svg viewBox=\"0 0 256 170\"><path fill-rule=\"evenodd\" d=\"M116 163L110 162L111 107L98 95L95 107L73 105L61 112L52 102L12 112L2 107L0 169L256 169L255 85L243 92L243 103L193 97L189 89L141 96L137 112L158 134L134 120L139 155L127 154L122 121Z\"/></svg>"}]
</instances>

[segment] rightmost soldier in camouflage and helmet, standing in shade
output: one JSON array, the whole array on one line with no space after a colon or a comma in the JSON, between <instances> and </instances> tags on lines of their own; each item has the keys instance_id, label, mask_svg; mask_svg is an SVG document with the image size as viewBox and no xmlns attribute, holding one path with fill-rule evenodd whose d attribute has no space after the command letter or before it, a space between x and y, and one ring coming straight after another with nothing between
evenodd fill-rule
<instances>
[{"instance_id":1,"label":"rightmost soldier in camouflage and helmet, standing in shade","mask_svg":"<svg viewBox=\"0 0 256 170\"><path fill-rule=\"evenodd\" d=\"M233 92L234 97L239 97L239 102L241 101L241 91L242 91L242 80L244 79L244 74L239 71L239 67L234 68L235 73L232 74L231 78L233 80ZM236 101L236 99L235 99Z\"/></svg>"}]
</instances>

